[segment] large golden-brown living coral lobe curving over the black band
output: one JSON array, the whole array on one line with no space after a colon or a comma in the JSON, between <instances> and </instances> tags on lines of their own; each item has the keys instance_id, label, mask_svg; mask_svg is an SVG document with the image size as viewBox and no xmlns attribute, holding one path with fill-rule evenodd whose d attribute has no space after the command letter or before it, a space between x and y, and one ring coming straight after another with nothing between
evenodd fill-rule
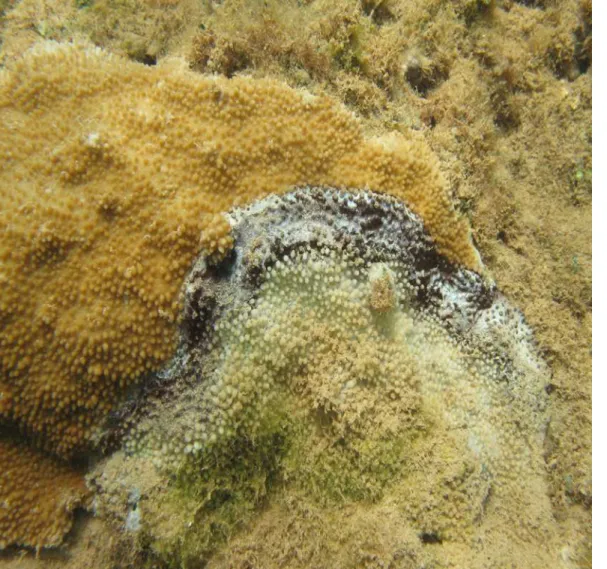
<instances>
[{"instance_id":1,"label":"large golden-brown living coral lobe curving over the black band","mask_svg":"<svg viewBox=\"0 0 607 569\"><path fill-rule=\"evenodd\" d=\"M0 419L69 456L171 355L179 290L219 215L295 184L404 199L477 267L435 162L366 140L327 98L42 44L0 76Z\"/></svg>"}]
</instances>

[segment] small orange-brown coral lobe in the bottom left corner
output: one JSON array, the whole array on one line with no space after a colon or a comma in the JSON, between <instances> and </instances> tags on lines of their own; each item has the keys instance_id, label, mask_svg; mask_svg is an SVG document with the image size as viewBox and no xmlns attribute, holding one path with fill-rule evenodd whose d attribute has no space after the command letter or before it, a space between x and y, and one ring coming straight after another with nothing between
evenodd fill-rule
<instances>
[{"instance_id":1,"label":"small orange-brown coral lobe in the bottom left corner","mask_svg":"<svg viewBox=\"0 0 607 569\"><path fill-rule=\"evenodd\" d=\"M13 543L59 545L72 525L72 511L88 494L81 476L6 440L0 440L0 456L0 549Z\"/></svg>"}]
</instances>

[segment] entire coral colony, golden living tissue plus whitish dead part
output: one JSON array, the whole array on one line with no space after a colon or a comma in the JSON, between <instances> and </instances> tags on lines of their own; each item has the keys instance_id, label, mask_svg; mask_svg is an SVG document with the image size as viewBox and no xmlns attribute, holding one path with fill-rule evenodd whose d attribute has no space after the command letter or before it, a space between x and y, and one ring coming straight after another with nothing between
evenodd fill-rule
<instances>
[{"instance_id":1,"label":"entire coral colony, golden living tissue plus whitish dead part","mask_svg":"<svg viewBox=\"0 0 607 569\"><path fill-rule=\"evenodd\" d=\"M546 371L421 142L54 43L0 72L0 117L0 421L30 441L0 441L0 546L61 543L87 492L181 560L286 487L406 484L402 523L436 539L490 497L521 532L549 515ZM59 459L91 450L87 491Z\"/></svg>"}]
</instances>

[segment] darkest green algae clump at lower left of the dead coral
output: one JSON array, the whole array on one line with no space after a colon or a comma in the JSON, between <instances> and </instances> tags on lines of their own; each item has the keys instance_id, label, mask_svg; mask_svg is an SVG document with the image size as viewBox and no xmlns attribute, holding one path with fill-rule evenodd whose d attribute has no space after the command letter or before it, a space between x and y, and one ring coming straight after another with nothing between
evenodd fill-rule
<instances>
[{"instance_id":1,"label":"darkest green algae clump at lower left of the dead coral","mask_svg":"<svg viewBox=\"0 0 607 569\"><path fill-rule=\"evenodd\" d=\"M181 529L152 543L169 566L193 567L207 560L282 487L281 463L293 425L275 413L266 416L264 427L254 438L237 436L188 457L172 475L162 509L179 512Z\"/></svg>"}]
</instances>

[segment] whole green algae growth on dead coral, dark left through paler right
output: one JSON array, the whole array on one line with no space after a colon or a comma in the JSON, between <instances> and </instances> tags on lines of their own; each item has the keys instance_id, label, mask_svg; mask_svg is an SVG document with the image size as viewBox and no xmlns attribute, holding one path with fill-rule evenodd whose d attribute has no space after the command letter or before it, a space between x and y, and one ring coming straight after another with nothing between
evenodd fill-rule
<instances>
[{"instance_id":1,"label":"whole green algae growth on dead coral, dark left through paler right","mask_svg":"<svg viewBox=\"0 0 607 569\"><path fill-rule=\"evenodd\" d=\"M179 512L181 529L151 540L151 549L169 566L194 567L280 496L305 495L320 506L376 502L406 474L415 438L336 436L326 413L302 411L283 393L255 434L237 433L184 459L161 508Z\"/></svg>"}]
</instances>

